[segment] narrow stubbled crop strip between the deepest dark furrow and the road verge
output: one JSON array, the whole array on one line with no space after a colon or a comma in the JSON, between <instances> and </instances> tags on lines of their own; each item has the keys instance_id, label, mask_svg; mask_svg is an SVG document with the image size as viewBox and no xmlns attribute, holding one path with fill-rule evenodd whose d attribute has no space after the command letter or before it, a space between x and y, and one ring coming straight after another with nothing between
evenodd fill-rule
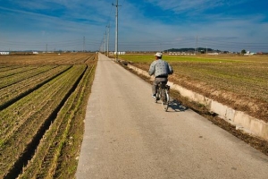
<instances>
[{"instance_id":1,"label":"narrow stubbled crop strip between the deepest dark furrow and the road verge","mask_svg":"<svg viewBox=\"0 0 268 179\"><path fill-rule=\"evenodd\" d=\"M54 178L56 169L59 166L60 155L63 154L64 146L69 143L69 130L74 120L78 120L76 115L80 111L81 104L85 100L86 90L88 90L90 79L94 76L95 66L91 66L85 72L76 90L71 94L60 110L54 124L44 135L38 150L26 166L19 178ZM65 171L66 175L67 171Z\"/></svg>"}]
</instances>

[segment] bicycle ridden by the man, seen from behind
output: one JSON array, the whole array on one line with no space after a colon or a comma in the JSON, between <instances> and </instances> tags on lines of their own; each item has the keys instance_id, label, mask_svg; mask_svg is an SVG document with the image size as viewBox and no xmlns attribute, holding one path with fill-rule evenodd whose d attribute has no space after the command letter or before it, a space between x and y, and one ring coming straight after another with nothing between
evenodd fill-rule
<instances>
[{"instance_id":1,"label":"bicycle ridden by the man, seen from behind","mask_svg":"<svg viewBox=\"0 0 268 179\"><path fill-rule=\"evenodd\" d=\"M155 103L157 103L158 100L161 100L163 110L167 111L170 102L170 86L163 82L157 85Z\"/></svg>"}]
</instances>

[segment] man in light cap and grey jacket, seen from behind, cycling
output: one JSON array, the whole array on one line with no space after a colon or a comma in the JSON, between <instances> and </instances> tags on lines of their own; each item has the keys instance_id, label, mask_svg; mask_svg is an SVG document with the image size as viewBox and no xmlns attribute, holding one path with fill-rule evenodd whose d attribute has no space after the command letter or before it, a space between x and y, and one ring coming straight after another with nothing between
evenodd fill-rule
<instances>
[{"instance_id":1,"label":"man in light cap and grey jacket, seen from behind, cycling","mask_svg":"<svg viewBox=\"0 0 268 179\"><path fill-rule=\"evenodd\" d=\"M155 61L150 65L148 73L150 76L155 75L155 81L152 86L152 97L156 98L157 85L160 82L167 83L168 75L173 73L172 66L162 59L161 52L157 52L155 54Z\"/></svg>"}]
</instances>

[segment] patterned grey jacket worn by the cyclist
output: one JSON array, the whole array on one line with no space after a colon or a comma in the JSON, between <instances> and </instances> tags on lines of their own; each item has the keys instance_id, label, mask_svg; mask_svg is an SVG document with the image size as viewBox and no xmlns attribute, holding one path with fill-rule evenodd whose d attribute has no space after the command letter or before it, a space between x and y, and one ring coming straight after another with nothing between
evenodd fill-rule
<instances>
[{"instance_id":1,"label":"patterned grey jacket worn by the cyclist","mask_svg":"<svg viewBox=\"0 0 268 179\"><path fill-rule=\"evenodd\" d=\"M173 73L172 66L162 59L155 60L149 68L149 75L155 74L155 77L166 76Z\"/></svg>"}]
</instances>

